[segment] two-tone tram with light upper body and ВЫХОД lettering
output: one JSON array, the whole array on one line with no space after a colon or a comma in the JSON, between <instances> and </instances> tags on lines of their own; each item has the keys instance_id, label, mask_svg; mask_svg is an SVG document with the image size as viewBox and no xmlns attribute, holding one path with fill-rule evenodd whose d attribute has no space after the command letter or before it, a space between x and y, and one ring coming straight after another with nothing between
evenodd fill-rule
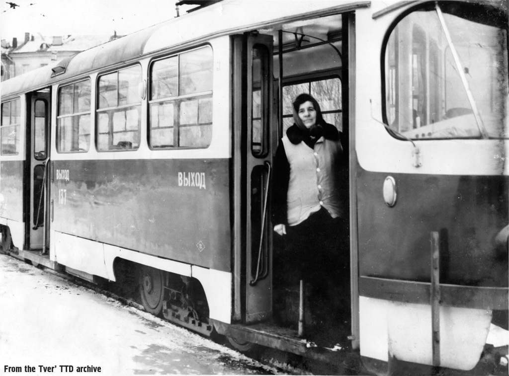
<instances>
[{"instance_id":1,"label":"two-tone tram with light upper body and \u0412\u042b\u0425\u041e\u0414 lettering","mask_svg":"<svg viewBox=\"0 0 509 376\"><path fill-rule=\"evenodd\" d=\"M470 370L507 317L507 38L500 1L223 0L11 78L3 248L137 278L147 311L239 350ZM342 135L340 351L298 331L269 215L300 93Z\"/></svg>"}]
</instances>

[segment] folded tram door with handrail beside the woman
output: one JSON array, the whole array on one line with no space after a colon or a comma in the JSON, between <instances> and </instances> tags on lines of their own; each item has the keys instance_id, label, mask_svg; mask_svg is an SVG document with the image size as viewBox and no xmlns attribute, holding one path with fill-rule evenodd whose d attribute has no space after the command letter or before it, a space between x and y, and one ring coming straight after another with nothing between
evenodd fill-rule
<instances>
[{"instance_id":1,"label":"folded tram door with handrail beside the woman","mask_svg":"<svg viewBox=\"0 0 509 376\"><path fill-rule=\"evenodd\" d=\"M234 163L236 176L236 319L272 315L272 229L269 187L276 146L272 91L272 36L233 37ZM238 210L238 209L240 210ZM237 232L238 231L238 232Z\"/></svg>"}]
</instances>

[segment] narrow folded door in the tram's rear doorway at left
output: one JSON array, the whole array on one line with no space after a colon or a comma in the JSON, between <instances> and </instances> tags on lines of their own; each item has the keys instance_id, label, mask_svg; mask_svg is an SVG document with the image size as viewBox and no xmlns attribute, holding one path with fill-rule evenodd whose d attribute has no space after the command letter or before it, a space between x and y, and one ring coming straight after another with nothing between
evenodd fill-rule
<instances>
[{"instance_id":1,"label":"narrow folded door in the tram's rear doorway at left","mask_svg":"<svg viewBox=\"0 0 509 376\"><path fill-rule=\"evenodd\" d=\"M44 243L49 243L49 228L47 226L47 200L49 194L48 161L49 161L49 131L50 131L50 101L49 89L31 93L27 96L27 170L30 185L27 193L30 199L26 200L25 223L29 226L26 234L28 249L46 250ZM30 192L28 192L30 191ZM30 208L28 208L30 206Z\"/></svg>"}]
</instances>

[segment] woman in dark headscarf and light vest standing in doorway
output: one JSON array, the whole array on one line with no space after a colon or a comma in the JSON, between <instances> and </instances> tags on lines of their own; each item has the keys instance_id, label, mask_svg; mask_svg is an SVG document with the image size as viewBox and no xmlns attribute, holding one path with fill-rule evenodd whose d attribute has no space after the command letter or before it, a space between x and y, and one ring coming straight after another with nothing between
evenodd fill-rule
<instances>
[{"instance_id":1,"label":"woman in dark headscarf and light vest standing in doorway","mask_svg":"<svg viewBox=\"0 0 509 376\"><path fill-rule=\"evenodd\" d=\"M346 212L337 175L343 148L340 133L323 120L309 94L297 96L293 118L274 160L272 223L285 243L282 275L291 276L291 283L306 282L311 324L320 326L334 309L331 287L345 277L349 252L340 249Z\"/></svg>"}]
</instances>

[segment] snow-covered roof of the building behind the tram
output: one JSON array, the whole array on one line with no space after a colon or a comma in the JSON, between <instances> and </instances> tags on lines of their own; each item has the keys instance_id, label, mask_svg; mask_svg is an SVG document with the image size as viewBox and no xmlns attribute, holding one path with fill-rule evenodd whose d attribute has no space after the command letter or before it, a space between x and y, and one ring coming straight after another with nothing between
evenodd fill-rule
<instances>
[{"instance_id":1,"label":"snow-covered roof of the building behind the tram","mask_svg":"<svg viewBox=\"0 0 509 376\"><path fill-rule=\"evenodd\" d=\"M116 36L115 36L116 37ZM38 51L72 51L78 52L110 41L111 35L70 35L58 37L32 36L23 45L11 51L12 54Z\"/></svg>"}]
</instances>

